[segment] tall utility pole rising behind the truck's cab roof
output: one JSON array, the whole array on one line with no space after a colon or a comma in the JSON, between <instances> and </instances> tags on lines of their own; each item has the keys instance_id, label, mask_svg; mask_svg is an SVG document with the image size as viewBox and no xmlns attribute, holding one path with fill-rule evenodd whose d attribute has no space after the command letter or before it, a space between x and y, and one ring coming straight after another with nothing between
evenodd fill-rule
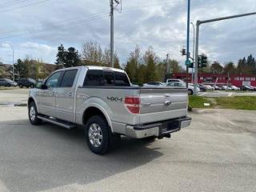
<instances>
[{"instance_id":1,"label":"tall utility pole rising behind the truck's cab roof","mask_svg":"<svg viewBox=\"0 0 256 192\"><path fill-rule=\"evenodd\" d=\"M116 5L114 6L114 2ZM120 4L120 10L117 6ZM114 67L114 10L122 11L122 0L110 0L110 66Z\"/></svg>"}]
</instances>

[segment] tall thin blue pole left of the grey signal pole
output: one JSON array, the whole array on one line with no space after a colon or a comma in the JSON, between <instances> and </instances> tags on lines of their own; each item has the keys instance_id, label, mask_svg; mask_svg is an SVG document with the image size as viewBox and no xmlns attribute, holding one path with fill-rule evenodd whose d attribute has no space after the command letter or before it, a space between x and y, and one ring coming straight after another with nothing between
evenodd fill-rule
<instances>
[{"instance_id":1,"label":"tall thin blue pole left of the grey signal pole","mask_svg":"<svg viewBox=\"0 0 256 192\"><path fill-rule=\"evenodd\" d=\"M190 0L187 1L187 21L186 21L186 61L190 59ZM189 66L186 65L186 87L189 83Z\"/></svg>"}]
</instances>

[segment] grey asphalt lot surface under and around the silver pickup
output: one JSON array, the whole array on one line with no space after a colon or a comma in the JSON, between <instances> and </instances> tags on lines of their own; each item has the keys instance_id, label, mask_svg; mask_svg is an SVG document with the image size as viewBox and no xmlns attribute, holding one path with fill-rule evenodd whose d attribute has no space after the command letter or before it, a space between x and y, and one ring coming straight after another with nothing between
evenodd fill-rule
<instances>
[{"instance_id":1,"label":"grey asphalt lot surface under and around the silver pickup","mask_svg":"<svg viewBox=\"0 0 256 192\"><path fill-rule=\"evenodd\" d=\"M0 114L1 192L256 190L256 111L195 110L172 138L122 138L104 156L82 129L30 125L26 106Z\"/></svg>"}]
</instances>

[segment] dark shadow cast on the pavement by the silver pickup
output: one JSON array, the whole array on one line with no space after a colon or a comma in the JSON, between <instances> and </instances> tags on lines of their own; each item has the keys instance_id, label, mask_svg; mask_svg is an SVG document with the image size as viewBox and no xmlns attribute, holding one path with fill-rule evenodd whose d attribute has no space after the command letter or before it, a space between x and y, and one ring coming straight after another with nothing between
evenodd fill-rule
<instances>
[{"instance_id":1,"label":"dark shadow cast on the pavement by the silver pickup","mask_svg":"<svg viewBox=\"0 0 256 192\"><path fill-rule=\"evenodd\" d=\"M109 154L92 154L81 128L66 130L28 120L0 124L0 179L10 191L41 191L85 185L159 158L149 141L122 138Z\"/></svg>"}]
</instances>

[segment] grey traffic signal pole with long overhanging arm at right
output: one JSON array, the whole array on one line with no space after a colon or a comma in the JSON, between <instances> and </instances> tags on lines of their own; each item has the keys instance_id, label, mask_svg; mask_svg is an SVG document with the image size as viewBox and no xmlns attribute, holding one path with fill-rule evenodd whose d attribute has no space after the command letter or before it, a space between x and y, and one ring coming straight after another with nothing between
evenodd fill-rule
<instances>
[{"instance_id":1,"label":"grey traffic signal pole with long overhanging arm at right","mask_svg":"<svg viewBox=\"0 0 256 192\"><path fill-rule=\"evenodd\" d=\"M254 15L256 14L256 12L251 12L251 13L247 13L247 14L235 14L235 15L231 15L231 16L227 16L227 17L223 17L223 18L213 18L213 19L208 19L208 20L203 20L197 21L196 24L196 41L195 41L195 59L194 59L194 94L197 95L197 86L198 86L198 45L199 45L199 26L203 23L207 23L207 22L218 22L218 21L222 21L222 20L226 20L226 19L230 19L230 18L241 18L241 17L246 17L246 16L250 16L250 15Z\"/></svg>"}]
</instances>

